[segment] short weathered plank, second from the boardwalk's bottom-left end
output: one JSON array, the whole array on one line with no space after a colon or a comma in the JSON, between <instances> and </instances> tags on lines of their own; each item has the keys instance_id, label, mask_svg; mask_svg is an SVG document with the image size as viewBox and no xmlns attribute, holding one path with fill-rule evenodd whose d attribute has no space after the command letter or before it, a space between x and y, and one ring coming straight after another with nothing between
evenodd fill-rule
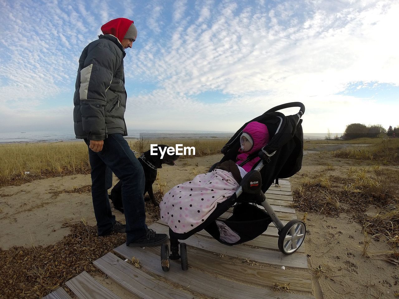
<instances>
[{"instance_id":1,"label":"short weathered plank, second from the boardwalk's bottom-left end","mask_svg":"<svg viewBox=\"0 0 399 299\"><path fill-rule=\"evenodd\" d=\"M86 271L68 280L65 284L79 299L120 299Z\"/></svg>"}]
</instances>

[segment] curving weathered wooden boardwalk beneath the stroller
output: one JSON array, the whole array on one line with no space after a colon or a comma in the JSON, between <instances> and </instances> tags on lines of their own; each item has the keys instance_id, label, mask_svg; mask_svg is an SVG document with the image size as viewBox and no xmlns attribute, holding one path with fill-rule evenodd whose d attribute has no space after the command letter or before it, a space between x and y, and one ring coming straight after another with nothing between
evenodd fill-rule
<instances>
[{"instance_id":1,"label":"curving weathered wooden boardwalk beneath the stroller","mask_svg":"<svg viewBox=\"0 0 399 299\"><path fill-rule=\"evenodd\" d=\"M295 210L287 207L292 202L290 182L280 180L266 193L283 223L296 219ZM229 217L231 211L221 218ZM157 232L168 232L168 226L158 221L149 226ZM188 253L188 271L181 269L180 260L170 261L170 271L164 272L160 263L160 246L131 248L125 244L94 262L111 279L115 280L136 297L155 298L265 298L310 299L312 295L311 274L305 254L306 238L302 247L290 256L279 252L278 233L273 223L255 240L236 246L225 246L201 231L185 242ZM122 258L120 258L122 257ZM142 268L124 262L133 257ZM281 269L282 266L285 269ZM289 284L289 291L275 291L273 284ZM87 273L81 273L66 285L80 299L119 298L105 289ZM61 292L62 293L62 292ZM69 298L49 297L52 298Z\"/></svg>"}]
</instances>

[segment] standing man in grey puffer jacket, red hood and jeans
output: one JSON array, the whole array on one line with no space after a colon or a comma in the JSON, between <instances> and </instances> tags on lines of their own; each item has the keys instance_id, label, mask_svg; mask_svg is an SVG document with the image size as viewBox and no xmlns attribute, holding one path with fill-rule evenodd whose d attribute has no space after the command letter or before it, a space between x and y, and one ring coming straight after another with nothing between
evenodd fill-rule
<instances>
[{"instance_id":1,"label":"standing man in grey puffer jacket, red hood and jeans","mask_svg":"<svg viewBox=\"0 0 399 299\"><path fill-rule=\"evenodd\" d=\"M126 232L126 245L157 246L167 242L145 223L144 171L128 143L124 112L123 58L137 30L133 21L111 20L101 27L103 35L83 49L79 58L73 97L75 135L89 147L91 195L99 236ZM122 203L126 225L115 220L108 199L112 173L122 181Z\"/></svg>"}]
</instances>

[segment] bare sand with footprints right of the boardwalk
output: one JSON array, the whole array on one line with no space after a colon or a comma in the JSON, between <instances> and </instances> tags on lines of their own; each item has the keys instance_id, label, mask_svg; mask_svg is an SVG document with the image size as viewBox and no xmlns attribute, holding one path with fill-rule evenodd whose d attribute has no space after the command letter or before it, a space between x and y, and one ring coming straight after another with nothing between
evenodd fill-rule
<instances>
[{"instance_id":1,"label":"bare sand with footprints right of the boardwalk","mask_svg":"<svg viewBox=\"0 0 399 299\"><path fill-rule=\"evenodd\" d=\"M334 175L347 177L349 167L370 167L375 163L332 157L330 152L305 155L302 169L291 179L294 190L304 176ZM398 167L389 167L399 174ZM371 207L367 214L375 216ZM304 213L297 211L298 218ZM362 257L365 236L361 224L346 213L338 218L319 213L306 216L306 253L313 274L317 299L335 298L395 298L399 294L399 267L387 262L390 251L383 241L370 241L367 257Z\"/></svg>"}]
</instances>

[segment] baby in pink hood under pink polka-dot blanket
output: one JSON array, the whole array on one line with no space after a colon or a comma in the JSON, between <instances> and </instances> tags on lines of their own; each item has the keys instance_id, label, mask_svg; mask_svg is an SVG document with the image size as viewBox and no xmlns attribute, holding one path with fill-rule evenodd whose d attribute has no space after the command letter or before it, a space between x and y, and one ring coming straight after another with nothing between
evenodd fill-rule
<instances>
[{"instance_id":1,"label":"baby in pink hood under pink polka-dot blanket","mask_svg":"<svg viewBox=\"0 0 399 299\"><path fill-rule=\"evenodd\" d=\"M237 161L225 161L213 171L199 174L192 181L170 189L160 203L161 220L176 233L196 228L216 209L218 203L235 193L242 177L251 171L260 158L249 155L269 142L266 125L250 122L240 137L241 148Z\"/></svg>"}]
</instances>

